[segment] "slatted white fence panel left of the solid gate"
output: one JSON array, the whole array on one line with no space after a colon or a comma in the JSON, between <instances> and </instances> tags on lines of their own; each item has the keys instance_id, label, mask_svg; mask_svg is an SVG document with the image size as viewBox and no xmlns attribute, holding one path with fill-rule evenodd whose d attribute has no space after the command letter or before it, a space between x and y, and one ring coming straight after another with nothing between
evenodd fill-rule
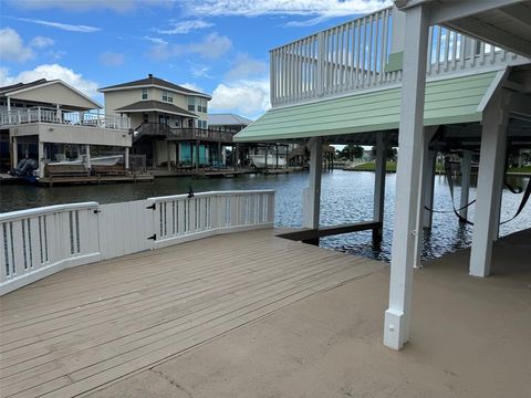
<instances>
[{"instance_id":1,"label":"slatted white fence panel left of the solid gate","mask_svg":"<svg viewBox=\"0 0 531 398\"><path fill-rule=\"evenodd\" d=\"M96 202L0 214L0 295L100 260Z\"/></svg>"}]
</instances>

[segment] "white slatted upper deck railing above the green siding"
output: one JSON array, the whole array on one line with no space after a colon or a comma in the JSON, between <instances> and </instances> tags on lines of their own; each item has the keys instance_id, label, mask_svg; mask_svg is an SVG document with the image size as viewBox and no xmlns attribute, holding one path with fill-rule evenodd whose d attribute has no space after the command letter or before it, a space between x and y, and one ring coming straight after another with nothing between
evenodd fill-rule
<instances>
[{"instance_id":1,"label":"white slatted upper deck railing above the green siding","mask_svg":"<svg viewBox=\"0 0 531 398\"><path fill-rule=\"evenodd\" d=\"M398 11L397 11L398 12ZM402 82L402 51L392 7L270 52L273 107ZM427 76L525 59L439 25L429 28Z\"/></svg>"}]
</instances>

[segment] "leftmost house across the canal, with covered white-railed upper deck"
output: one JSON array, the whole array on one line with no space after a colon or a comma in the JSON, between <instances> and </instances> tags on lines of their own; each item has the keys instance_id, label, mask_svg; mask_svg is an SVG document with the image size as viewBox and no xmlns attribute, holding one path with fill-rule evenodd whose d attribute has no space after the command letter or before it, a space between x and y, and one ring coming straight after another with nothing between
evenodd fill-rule
<instances>
[{"instance_id":1,"label":"leftmost house across the canal, with covered white-railed upper deck","mask_svg":"<svg viewBox=\"0 0 531 398\"><path fill-rule=\"evenodd\" d=\"M93 156L116 155L116 161L124 163L127 169L129 119L104 115L101 108L61 80L41 78L0 87L2 170L17 168L24 158L34 163L41 178L50 163L77 163L88 170L98 160L91 159L91 148Z\"/></svg>"}]
</instances>

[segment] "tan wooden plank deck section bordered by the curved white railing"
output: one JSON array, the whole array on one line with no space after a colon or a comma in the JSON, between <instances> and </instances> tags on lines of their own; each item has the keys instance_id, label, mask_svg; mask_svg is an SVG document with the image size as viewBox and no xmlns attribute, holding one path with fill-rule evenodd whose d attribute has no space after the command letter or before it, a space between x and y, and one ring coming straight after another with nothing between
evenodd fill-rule
<instances>
[{"instance_id":1,"label":"tan wooden plank deck section bordered by the curved white railing","mask_svg":"<svg viewBox=\"0 0 531 398\"><path fill-rule=\"evenodd\" d=\"M274 232L79 266L1 297L1 396L94 390L386 266Z\"/></svg>"}]
</instances>

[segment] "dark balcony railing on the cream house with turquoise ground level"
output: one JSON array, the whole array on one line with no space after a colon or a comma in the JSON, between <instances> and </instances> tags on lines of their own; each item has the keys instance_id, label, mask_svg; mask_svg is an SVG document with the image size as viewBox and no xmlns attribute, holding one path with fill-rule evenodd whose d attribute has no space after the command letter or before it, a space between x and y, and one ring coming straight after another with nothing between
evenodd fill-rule
<instances>
[{"instance_id":1,"label":"dark balcony railing on the cream house with turquoise ground level","mask_svg":"<svg viewBox=\"0 0 531 398\"><path fill-rule=\"evenodd\" d=\"M231 133L209 128L183 127L174 128L160 123L144 123L134 133L134 140L143 136L163 136L168 140L206 140L215 143L232 143Z\"/></svg>"}]
</instances>

